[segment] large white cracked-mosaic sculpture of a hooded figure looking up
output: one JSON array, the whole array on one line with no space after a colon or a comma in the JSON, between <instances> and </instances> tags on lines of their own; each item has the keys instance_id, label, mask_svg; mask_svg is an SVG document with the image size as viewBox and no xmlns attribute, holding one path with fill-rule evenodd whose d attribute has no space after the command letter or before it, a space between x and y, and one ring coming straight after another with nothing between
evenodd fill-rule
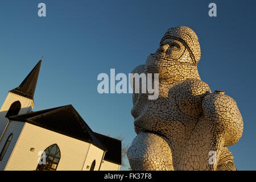
<instances>
[{"instance_id":1,"label":"large white cracked-mosaic sculpture of a hooded figure looking up","mask_svg":"<svg viewBox=\"0 0 256 182\"><path fill-rule=\"evenodd\" d=\"M159 97L133 94L134 128L128 159L132 170L236 170L228 146L242 136L236 101L201 81L197 35L170 28L160 47L133 73L158 73Z\"/></svg>"}]
</instances>

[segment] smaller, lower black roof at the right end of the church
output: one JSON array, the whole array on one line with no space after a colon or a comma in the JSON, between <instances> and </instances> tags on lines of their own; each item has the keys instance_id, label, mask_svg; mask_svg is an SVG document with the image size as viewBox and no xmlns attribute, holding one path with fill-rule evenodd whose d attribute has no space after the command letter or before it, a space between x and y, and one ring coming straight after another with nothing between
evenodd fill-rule
<instances>
[{"instance_id":1,"label":"smaller, lower black roof at the right end of the church","mask_svg":"<svg viewBox=\"0 0 256 182\"><path fill-rule=\"evenodd\" d=\"M106 147L108 151L104 156L104 160L108 160L109 162L115 164L122 164L122 141L108 137L106 135L93 133L96 138Z\"/></svg>"}]
</instances>

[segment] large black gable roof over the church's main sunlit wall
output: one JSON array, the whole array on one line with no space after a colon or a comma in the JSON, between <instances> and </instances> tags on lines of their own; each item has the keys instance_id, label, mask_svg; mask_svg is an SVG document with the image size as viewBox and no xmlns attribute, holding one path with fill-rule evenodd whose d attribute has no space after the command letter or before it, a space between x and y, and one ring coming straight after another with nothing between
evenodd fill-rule
<instances>
[{"instance_id":1,"label":"large black gable roof over the church's main sunlit wall","mask_svg":"<svg viewBox=\"0 0 256 182\"><path fill-rule=\"evenodd\" d=\"M13 115L9 119L11 121L27 122L47 130L55 131L56 133L67 135L68 137L93 143L106 151L106 148L94 136L93 131L72 105Z\"/></svg>"}]
</instances>

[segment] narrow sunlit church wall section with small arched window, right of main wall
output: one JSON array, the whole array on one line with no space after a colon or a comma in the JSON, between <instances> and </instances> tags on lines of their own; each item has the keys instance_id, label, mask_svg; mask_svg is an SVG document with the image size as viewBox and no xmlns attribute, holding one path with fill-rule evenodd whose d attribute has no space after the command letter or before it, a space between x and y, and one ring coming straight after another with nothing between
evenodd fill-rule
<instances>
[{"instance_id":1,"label":"narrow sunlit church wall section with small arched window, right of main wall","mask_svg":"<svg viewBox=\"0 0 256 182\"><path fill-rule=\"evenodd\" d=\"M94 171L98 171L100 168L102 156L104 155L104 151L101 150L100 148L94 146L93 144L90 145L88 155L86 157L85 163L84 163L84 168L82 169L83 171L89 171L90 166L92 165L93 160L96 161ZM89 166L87 168L87 166Z\"/></svg>"}]
</instances>

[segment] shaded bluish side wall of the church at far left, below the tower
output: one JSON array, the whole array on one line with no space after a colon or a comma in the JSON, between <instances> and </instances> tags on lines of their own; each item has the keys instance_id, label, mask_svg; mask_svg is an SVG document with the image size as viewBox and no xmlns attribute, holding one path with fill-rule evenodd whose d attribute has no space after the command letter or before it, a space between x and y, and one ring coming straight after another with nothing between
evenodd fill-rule
<instances>
[{"instance_id":1,"label":"shaded bluish side wall of the church at far left, below the tower","mask_svg":"<svg viewBox=\"0 0 256 182\"><path fill-rule=\"evenodd\" d=\"M0 152L2 151L6 143L6 140L9 138L11 133L13 133L13 138L11 139L11 142L9 144L9 147L7 148L5 155L3 156L3 159L0 161L0 171L3 171L3 169L5 169L6 164L11 156L11 153L15 148L15 144L20 136L20 133L22 132L23 126L23 122L11 121L9 123L9 126L7 127L5 134L3 135L3 138L0 141Z\"/></svg>"}]
</instances>

